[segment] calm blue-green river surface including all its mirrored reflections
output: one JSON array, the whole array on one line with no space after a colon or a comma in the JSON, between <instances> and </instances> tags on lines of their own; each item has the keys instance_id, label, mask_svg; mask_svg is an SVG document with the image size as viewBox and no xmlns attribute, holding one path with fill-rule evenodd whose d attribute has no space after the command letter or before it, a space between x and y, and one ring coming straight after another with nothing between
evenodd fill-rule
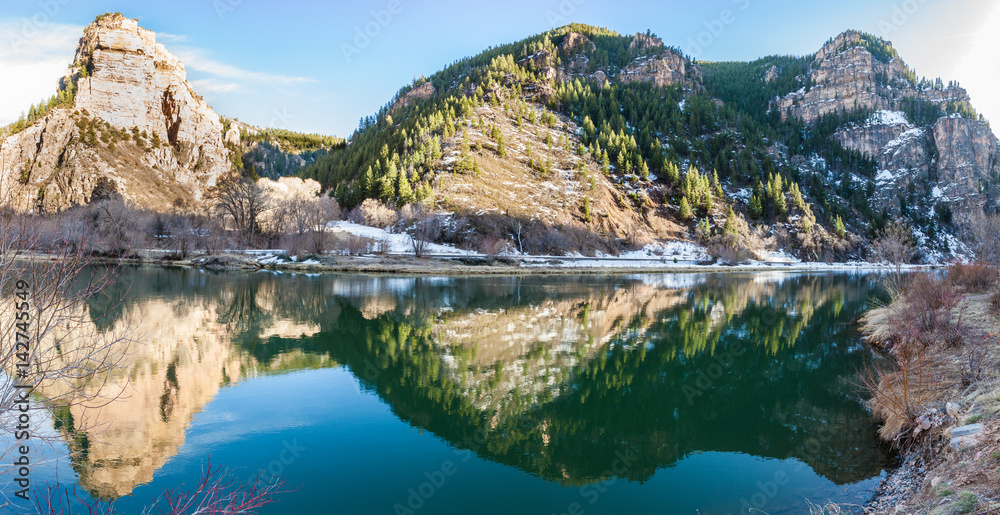
<instances>
[{"instance_id":1,"label":"calm blue-green river surface including all its mirrored reflections","mask_svg":"<svg viewBox=\"0 0 1000 515\"><path fill-rule=\"evenodd\" d=\"M56 413L51 454L73 457L34 479L126 513L209 456L297 488L264 513L859 503L892 466L856 386L876 283L126 269L128 300L95 323L142 320L128 390Z\"/></svg>"}]
</instances>

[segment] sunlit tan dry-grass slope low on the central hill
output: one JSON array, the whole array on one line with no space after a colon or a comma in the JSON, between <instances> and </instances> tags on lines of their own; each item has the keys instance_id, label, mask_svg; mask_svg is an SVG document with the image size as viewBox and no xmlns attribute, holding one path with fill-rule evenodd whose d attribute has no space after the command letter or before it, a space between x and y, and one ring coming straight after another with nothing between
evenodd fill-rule
<instances>
[{"instance_id":1,"label":"sunlit tan dry-grass slope low on the central hill","mask_svg":"<svg viewBox=\"0 0 1000 515\"><path fill-rule=\"evenodd\" d=\"M510 226L520 222L533 232L539 249L557 250L546 252L557 254L573 250L584 254L617 252L654 239L685 237L685 228L673 221L663 203L659 186L630 183L628 188L641 190L630 198L627 188L605 176L591 156L575 152L580 138L569 118L558 116L553 127L524 120L523 130L519 130L516 112L480 107L472 118L479 117L485 130L476 124L465 129L478 173L454 171L461 152L459 131L444 142L445 171L437 174L433 183L436 207L468 219L479 234L496 234L513 241ZM494 125L504 134L503 157L488 136ZM546 143L549 137L551 147ZM501 223L498 219L504 220ZM466 244L469 248L480 245L479 241Z\"/></svg>"}]
</instances>

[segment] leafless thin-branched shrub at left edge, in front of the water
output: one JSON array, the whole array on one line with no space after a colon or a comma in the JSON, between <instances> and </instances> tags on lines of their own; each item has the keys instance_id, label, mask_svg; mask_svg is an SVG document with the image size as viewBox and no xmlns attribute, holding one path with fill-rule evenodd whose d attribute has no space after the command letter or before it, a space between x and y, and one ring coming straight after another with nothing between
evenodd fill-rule
<instances>
[{"instance_id":1,"label":"leafless thin-branched shrub at left edge, in front of the water","mask_svg":"<svg viewBox=\"0 0 1000 515\"><path fill-rule=\"evenodd\" d=\"M99 319L100 315L92 314L88 304L95 296L106 295L108 311L115 309L121 299L110 297L107 287L116 271L88 268L91 255L86 230L71 246L48 247L53 260L20 260L27 250L42 246L38 242L42 220L0 211L0 431L6 434L14 434L18 423L13 410L25 391L18 385L30 385L32 397L40 397L27 405L29 413L99 407L117 398L125 387L108 378L129 353L131 329L100 330L95 323L95 316ZM27 347L16 345L25 341ZM103 382L105 387L95 393L89 388L94 382ZM35 432L31 436L33 441L58 438ZM13 447L0 449L8 457L12 452ZM12 470L0 467L0 475Z\"/></svg>"}]
</instances>

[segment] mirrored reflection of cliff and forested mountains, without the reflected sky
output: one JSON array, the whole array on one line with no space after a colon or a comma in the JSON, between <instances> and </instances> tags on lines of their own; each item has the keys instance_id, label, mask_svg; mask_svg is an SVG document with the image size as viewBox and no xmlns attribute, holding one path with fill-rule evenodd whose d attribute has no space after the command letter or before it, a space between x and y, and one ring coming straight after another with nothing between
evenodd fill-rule
<instances>
[{"instance_id":1,"label":"mirrored reflection of cliff and forested mountains, without the reflected sky","mask_svg":"<svg viewBox=\"0 0 1000 515\"><path fill-rule=\"evenodd\" d=\"M852 386L863 278L126 269L118 287L129 300L98 323L141 317L126 394L58 414L103 497L149 482L220 388L336 366L400 419L564 484L606 479L615 452L637 481L698 451L796 458L837 484L885 465Z\"/></svg>"}]
</instances>

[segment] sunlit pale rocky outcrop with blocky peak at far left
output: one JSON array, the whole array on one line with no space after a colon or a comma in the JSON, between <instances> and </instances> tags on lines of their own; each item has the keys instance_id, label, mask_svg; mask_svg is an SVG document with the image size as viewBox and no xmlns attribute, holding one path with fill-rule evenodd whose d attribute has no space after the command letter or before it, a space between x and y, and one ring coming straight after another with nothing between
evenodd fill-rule
<instances>
[{"instance_id":1,"label":"sunlit pale rocky outcrop with blocky peak at far left","mask_svg":"<svg viewBox=\"0 0 1000 515\"><path fill-rule=\"evenodd\" d=\"M87 26L60 88L75 89L72 107L0 147L4 200L22 209L86 204L97 184L146 207L183 205L231 168L219 116L135 20L108 14Z\"/></svg>"}]
</instances>

